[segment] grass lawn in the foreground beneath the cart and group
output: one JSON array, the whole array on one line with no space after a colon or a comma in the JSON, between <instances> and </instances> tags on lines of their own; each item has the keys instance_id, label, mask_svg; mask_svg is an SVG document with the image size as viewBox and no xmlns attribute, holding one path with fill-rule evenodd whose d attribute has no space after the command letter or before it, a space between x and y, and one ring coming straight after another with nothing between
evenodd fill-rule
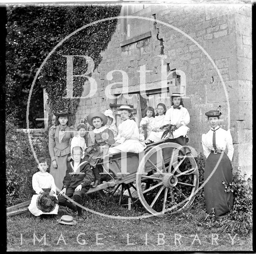
<instances>
[{"instance_id":1,"label":"grass lawn in the foreground beneath the cart and group","mask_svg":"<svg viewBox=\"0 0 256 254\"><path fill-rule=\"evenodd\" d=\"M138 209L129 211L117 203L112 199L104 204L100 197L94 197L87 199L85 207L114 216L146 213ZM46 217L39 223L29 212L8 217L7 251L252 250L252 232L236 234L236 222L230 219L212 223L199 202L180 213L143 219L113 219L85 211L85 221L74 226L56 221L65 214L76 217L64 207L60 207L56 217Z\"/></svg>"}]
</instances>

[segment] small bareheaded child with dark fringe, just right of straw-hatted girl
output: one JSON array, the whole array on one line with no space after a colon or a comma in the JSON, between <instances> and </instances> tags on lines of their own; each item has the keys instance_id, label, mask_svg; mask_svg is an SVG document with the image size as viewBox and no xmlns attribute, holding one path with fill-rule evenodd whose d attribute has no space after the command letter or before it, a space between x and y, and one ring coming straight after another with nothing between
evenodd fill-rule
<instances>
[{"instance_id":1,"label":"small bareheaded child with dark fringe, just right of straw-hatted girl","mask_svg":"<svg viewBox=\"0 0 256 254\"><path fill-rule=\"evenodd\" d=\"M144 116L140 121L140 140L145 140L145 143L150 143L148 137L152 130L152 122L154 121L155 112L151 106L146 107Z\"/></svg>"}]
</instances>

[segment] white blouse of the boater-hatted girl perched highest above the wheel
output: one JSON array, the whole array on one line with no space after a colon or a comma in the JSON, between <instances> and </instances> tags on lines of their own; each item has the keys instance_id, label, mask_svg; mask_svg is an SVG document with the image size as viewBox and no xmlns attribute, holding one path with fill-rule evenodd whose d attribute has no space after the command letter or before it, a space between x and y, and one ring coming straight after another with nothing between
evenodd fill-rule
<instances>
[{"instance_id":1,"label":"white blouse of the boater-hatted girl perched highest above the wheel","mask_svg":"<svg viewBox=\"0 0 256 254\"><path fill-rule=\"evenodd\" d=\"M183 124L188 125L190 122L190 116L188 110L180 105L180 109L173 108L171 106L165 113L164 125L165 124Z\"/></svg>"}]
</instances>

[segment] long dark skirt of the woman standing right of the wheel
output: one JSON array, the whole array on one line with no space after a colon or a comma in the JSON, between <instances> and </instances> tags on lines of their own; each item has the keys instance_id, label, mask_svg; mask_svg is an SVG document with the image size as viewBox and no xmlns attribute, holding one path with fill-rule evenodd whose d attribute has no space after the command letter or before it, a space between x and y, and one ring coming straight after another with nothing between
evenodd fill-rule
<instances>
[{"instance_id":1,"label":"long dark skirt of the woman standing right of the wheel","mask_svg":"<svg viewBox=\"0 0 256 254\"><path fill-rule=\"evenodd\" d=\"M232 166L228 156L224 153L219 165L217 166L213 175L207 180L214 167L217 165L221 154L212 154L208 156L204 169L204 195L206 201L206 210L208 214L213 213L215 216L222 216L230 211L233 207L234 199L233 193L225 192L225 185L232 183Z\"/></svg>"}]
</instances>

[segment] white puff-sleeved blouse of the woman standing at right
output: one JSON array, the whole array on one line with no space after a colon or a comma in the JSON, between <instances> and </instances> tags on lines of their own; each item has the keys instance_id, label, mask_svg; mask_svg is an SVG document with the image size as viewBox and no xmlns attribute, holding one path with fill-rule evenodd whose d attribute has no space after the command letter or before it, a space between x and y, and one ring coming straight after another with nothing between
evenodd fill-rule
<instances>
[{"instance_id":1,"label":"white puff-sleeved blouse of the woman standing at right","mask_svg":"<svg viewBox=\"0 0 256 254\"><path fill-rule=\"evenodd\" d=\"M218 126L215 129L217 129L215 132L216 148L218 150L225 150L226 148L228 148L227 156L231 161L234 154L234 147L233 147L233 140L230 134L230 130L224 130L222 128L219 128ZM213 137L212 128L206 134L202 134L202 146L203 146L204 155L206 159L208 158L211 151L214 150L213 144L212 144L212 137Z\"/></svg>"}]
</instances>

